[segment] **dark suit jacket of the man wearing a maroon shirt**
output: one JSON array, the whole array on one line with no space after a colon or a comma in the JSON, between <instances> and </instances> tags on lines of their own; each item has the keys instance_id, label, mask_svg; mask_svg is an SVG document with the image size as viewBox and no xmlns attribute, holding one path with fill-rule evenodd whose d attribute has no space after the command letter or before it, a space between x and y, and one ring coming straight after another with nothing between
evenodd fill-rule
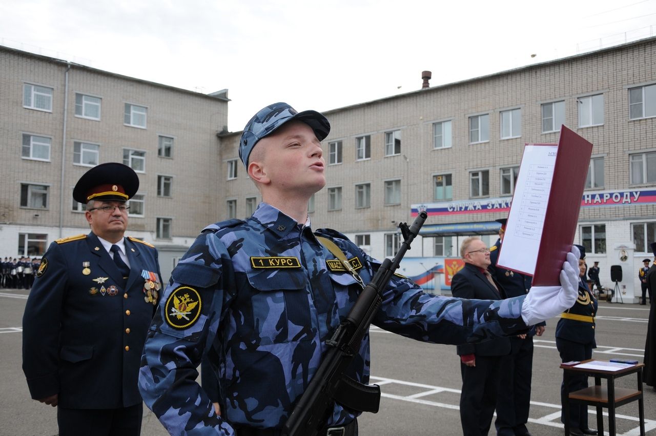
<instances>
[{"instance_id":1,"label":"dark suit jacket of the man wearing a maroon shirt","mask_svg":"<svg viewBox=\"0 0 656 436\"><path fill-rule=\"evenodd\" d=\"M451 294L454 297L466 299L499 300L506 297L501 284L497 283L497 291L477 267L465 263L464 268L451 280ZM520 332L521 333L521 332ZM510 353L510 339L497 338L480 343L458 345L459 356L474 354L477 356L504 356Z\"/></svg>"}]
</instances>

